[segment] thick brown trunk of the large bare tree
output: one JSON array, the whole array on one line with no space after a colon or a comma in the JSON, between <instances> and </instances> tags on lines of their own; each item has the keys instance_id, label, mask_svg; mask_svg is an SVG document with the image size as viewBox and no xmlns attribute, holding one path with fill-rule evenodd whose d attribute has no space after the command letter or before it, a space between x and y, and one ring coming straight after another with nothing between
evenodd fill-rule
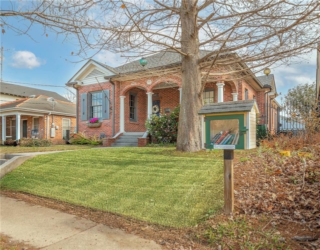
<instances>
[{"instance_id":1,"label":"thick brown trunk of the large bare tree","mask_svg":"<svg viewBox=\"0 0 320 250\"><path fill-rule=\"evenodd\" d=\"M182 99L176 149L187 152L201 149L201 121L198 111L202 105L202 97L198 95L201 89L201 74L196 27L195 1L182 0L181 50L186 56L182 56Z\"/></svg>"}]
</instances>

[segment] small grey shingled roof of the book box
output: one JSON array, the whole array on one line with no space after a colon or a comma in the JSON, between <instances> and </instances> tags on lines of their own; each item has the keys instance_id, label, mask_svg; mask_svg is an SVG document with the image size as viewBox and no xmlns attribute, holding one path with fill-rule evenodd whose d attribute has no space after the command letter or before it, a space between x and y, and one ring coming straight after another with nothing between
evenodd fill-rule
<instances>
[{"instance_id":1,"label":"small grey shingled roof of the book box","mask_svg":"<svg viewBox=\"0 0 320 250\"><path fill-rule=\"evenodd\" d=\"M259 113L255 100L216 102L202 106L199 115L226 113L226 112L249 112L254 107L255 112Z\"/></svg>"}]
</instances>

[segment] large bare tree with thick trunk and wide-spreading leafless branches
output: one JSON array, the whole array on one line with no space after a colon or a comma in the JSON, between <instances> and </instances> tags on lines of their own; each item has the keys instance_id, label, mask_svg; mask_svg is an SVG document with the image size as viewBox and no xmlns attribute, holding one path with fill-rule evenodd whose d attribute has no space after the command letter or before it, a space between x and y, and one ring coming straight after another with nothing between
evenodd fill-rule
<instances>
[{"instance_id":1,"label":"large bare tree with thick trunk and wide-spreading leafless branches","mask_svg":"<svg viewBox=\"0 0 320 250\"><path fill-rule=\"evenodd\" d=\"M237 66L243 63L252 72L289 63L290 56L316 48L320 36L318 0L12 1L0 16L3 32L27 34L40 23L44 34L49 29L77 43L74 54L83 58L101 50L179 53L183 94L177 150L189 152L201 149L197 112L208 78L243 77ZM29 20L29 26L13 26L12 17ZM202 56L200 49L207 52Z\"/></svg>"}]
</instances>

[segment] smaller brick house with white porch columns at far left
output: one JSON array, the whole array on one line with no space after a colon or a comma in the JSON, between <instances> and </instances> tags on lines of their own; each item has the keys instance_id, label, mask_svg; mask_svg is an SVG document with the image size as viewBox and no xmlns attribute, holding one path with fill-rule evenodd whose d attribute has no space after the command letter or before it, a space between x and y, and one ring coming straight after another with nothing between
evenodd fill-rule
<instances>
[{"instance_id":1,"label":"smaller brick house with white porch columns at far left","mask_svg":"<svg viewBox=\"0 0 320 250\"><path fill-rule=\"evenodd\" d=\"M75 130L75 104L55 92L1 83L1 100L2 144L21 138L63 144Z\"/></svg>"}]
</instances>

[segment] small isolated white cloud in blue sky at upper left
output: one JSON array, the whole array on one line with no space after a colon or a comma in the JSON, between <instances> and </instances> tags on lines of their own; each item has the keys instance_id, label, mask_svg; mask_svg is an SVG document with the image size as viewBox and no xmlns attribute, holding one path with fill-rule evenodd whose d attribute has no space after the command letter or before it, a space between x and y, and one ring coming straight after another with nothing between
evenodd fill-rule
<instances>
[{"instance_id":1,"label":"small isolated white cloud in blue sky at upper left","mask_svg":"<svg viewBox=\"0 0 320 250\"><path fill-rule=\"evenodd\" d=\"M45 63L45 61L42 61L39 57L36 57L35 54L27 50L14 52L11 59L11 66L15 68L32 69Z\"/></svg>"}]
</instances>

